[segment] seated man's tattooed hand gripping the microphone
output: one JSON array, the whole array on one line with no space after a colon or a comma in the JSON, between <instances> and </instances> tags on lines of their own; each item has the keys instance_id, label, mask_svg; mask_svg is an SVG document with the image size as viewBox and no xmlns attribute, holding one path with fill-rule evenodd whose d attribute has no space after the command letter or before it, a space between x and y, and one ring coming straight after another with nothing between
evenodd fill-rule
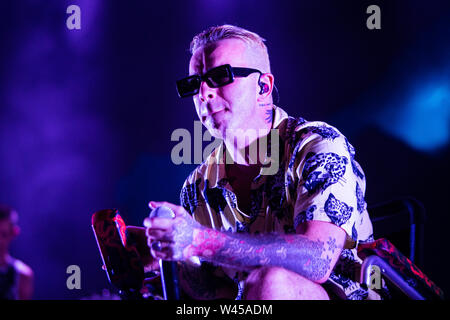
<instances>
[{"instance_id":1,"label":"seated man's tattooed hand gripping the microphone","mask_svg":"<svg viewBox=\"0 0 450 320\"><path fill-rule=\"evenodd\" d=\"M145 218L147 243L151 254L163 260L187 260L192 257L194 232L202 228L181 206L168 202L150 202L149 207L165 206L175 213L175 218ZM160 248L157 247L158 242Z\"/></svg>"}]
</instances>

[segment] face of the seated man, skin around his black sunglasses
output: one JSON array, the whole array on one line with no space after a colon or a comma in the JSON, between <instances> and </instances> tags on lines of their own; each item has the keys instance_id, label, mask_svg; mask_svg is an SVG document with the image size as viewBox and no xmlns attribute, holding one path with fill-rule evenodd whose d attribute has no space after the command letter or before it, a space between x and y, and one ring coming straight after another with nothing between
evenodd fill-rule
<instances>
[{"instance_id":1,"label":"face of the seated man, skin around his black sunglasses","mask_svg":"<svg viewBox=\"0 0 450 320\"><path fill-rule=\"evenodd\" d=\"M256 68L251 63L247 45L238 39L226 39L199 48L189 64L190 75L203 75L208 70L224 64L232 67ZM227 130L263 129L265 110L258 107L259 74L236 77L220 88L210 88L205 82L193 97L195 109L203 125L212 136L224 139Z\"/></svg>"}]
</instances>

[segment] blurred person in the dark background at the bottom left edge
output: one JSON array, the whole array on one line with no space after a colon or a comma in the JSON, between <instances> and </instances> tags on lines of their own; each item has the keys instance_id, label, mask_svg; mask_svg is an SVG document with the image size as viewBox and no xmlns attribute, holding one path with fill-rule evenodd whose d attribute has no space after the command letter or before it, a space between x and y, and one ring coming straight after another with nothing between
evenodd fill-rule
<instances>
[{"instance_id":1,"label":"blurred person in the dark background at the bottom left edge","mask_svg":"<svg viewBox=\"0 0 450 320\"><path fill-rule=\"evenodd\" d=\"M0 205L0 300L28 300L33 295L33 270L9 254L20 231L17 220L14 209Z\"/></svg>"}]
</instances>

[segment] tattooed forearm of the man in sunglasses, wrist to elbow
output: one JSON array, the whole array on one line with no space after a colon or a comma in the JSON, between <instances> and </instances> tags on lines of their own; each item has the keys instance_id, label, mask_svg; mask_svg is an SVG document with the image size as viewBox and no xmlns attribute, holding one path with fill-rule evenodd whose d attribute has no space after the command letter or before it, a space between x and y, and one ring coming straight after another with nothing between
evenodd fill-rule
<instances>
[{"instance_id":1,"label":"tattooed forearm of the man in sunglasses, wrist to elbow","mask_svg":"<svg viewBox=\"0 0 450 320\"><path fill-rule=\"evenodd\" d=\"M325 281L334 266L336 239L311 240L298 234L250 235L201 228L190 250L212 263L241 269L277 266L315 282Z\"/></svg>"}]
</instances>

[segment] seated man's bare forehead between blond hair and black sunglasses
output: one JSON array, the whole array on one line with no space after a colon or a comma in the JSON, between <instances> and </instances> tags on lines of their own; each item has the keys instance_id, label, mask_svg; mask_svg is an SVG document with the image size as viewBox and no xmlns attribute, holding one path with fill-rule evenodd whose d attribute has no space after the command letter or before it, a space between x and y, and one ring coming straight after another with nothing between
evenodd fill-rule
<instances>
[{"instance_id":1,"label":"seated man's bare forehead between blond hair and black sunglasses","mask_svg":"<svg viewBox=\"0 0 450 320\"><path fill-rule=\"evenodd\" d=\"M203 74L207 70L230 64L234 67L247 67L247 44L239 39L220 40L197 49L189 63L190 74Z\"/></svg>"}]
</instances>

